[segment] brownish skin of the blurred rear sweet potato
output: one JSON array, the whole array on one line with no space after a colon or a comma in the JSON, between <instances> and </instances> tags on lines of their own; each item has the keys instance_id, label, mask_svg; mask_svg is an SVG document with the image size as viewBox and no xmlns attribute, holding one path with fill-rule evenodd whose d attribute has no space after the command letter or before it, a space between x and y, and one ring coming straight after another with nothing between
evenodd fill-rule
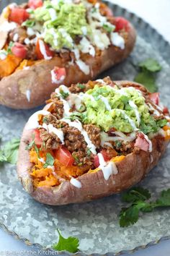
<instances>
[{"instance_id":1,"label":"brownish skin of the blurred rear sweet potato","mask_svg":"<svg viewBox=\"0 0 170 256\"><path fill-rule=\"evenodd\" d=\"M69 65L60 56L55 56L48 61L35 61L29 69L17 70L8 77L2 78L0 80L0 104L16 109L34 108L41 106L61 84L70 86L77 82L93 80L104 70L127 58L133 50L136 38L133 25L130 24L128 33L123 33L122 36L125 39L124 50L109 46L99 56L86 56L84 61L90 67L88 75L81 72L76 64ZM54 67L66 68L66 79L61 83L55 84L51 80L50 71ZM27 98L27 90L30 91L30 99Z\"/></svg>"}]
</instances>

